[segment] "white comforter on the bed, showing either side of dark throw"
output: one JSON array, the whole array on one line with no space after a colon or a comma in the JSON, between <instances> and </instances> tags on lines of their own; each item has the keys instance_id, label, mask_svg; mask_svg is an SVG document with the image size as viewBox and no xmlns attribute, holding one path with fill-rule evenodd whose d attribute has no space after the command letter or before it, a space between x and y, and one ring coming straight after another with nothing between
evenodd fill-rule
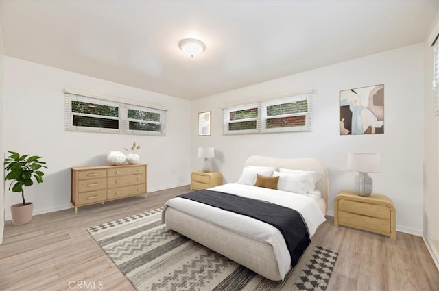
<instances>
[{"instance_id":1,"label":"white comforter on the bed, showing either side of dark throw","mask_svg":"<svg viewBox=\"0 0 439 291\"><path fill-rule=\"evenodd\" d=\"M295 194L292 192L236 183L224 184L214 188L209 188L209 190L236 194L242 197L259 199L292 208L298 211L305 220L309 231L309 237L313 236L317 227L326 220L318 207L316 199L307 197L303 194ZM165 213L167 206L173 207L176 210L180 210L181 212L185 212L202 220L209 221L210 223L219 225L231 231L272 244L281 277L285 277L290 270L291 257L287 245L285 244L285 240L276 227L248 216L236 214L235 212L228 212L217 207L179 197L169 199L169 201L165 203L163 213Z\"/></svg>"}]
</instances>

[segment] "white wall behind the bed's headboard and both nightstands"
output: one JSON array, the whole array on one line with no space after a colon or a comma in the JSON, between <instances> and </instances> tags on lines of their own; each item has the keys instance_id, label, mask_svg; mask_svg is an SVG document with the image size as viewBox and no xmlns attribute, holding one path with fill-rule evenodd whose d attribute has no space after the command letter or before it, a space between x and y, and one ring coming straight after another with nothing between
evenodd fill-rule
<instances>
[{"instance_id":1,"label":"white wall behind the bed's headboard and both nightstands","mask_svg":"<svg viewBox=\"0 0 439 291\"><path fill-rule=\"evenodd\" d=\"M199 170L198 147L215 147L213 170L226 182L239 179L250 155L318 157L329 167L329 214L340 190L353 190L357 173L346 171L348 152L381 154L381 173L370 174L374 192L390 197L399 231L420 235L423 199L423 44L386 51L193 101L191 170ZM385 133L340 136L339 92L384 84ZM311 132L224 136L222 108L233 103L317 90ZM212 111L212 135L198 136L198 112Z\"/></svg>"}]
</instances>

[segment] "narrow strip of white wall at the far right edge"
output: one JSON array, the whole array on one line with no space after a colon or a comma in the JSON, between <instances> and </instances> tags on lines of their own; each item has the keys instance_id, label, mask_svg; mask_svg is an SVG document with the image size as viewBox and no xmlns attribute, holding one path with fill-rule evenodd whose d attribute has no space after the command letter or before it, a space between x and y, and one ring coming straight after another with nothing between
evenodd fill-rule
<instances>
[{"instance_id":1,"label":"narrow strip of white wall at the far right edge","mask_svg":"<svg viewBox=\"0 0 439 291\"><path fill-rule=\"evenodd\" d=\"M439 14L436 17L436 30L439 33ZM431 39L425 42L425 107L424 107L424 175L423 175L423 237L431 256L439 268L439 116L434 116L433 48Z\"/></svg>"}]
</instances>

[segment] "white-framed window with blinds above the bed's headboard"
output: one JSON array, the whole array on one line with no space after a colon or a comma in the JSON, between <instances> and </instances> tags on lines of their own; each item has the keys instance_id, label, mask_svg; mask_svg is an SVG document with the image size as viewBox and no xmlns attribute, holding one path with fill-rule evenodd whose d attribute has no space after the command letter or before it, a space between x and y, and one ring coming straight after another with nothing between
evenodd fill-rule
<instances>
[{"instance_id":1,"label":"white-framed window with blinds above the bed's headboard","mask_svg":"<svg viewBox=\"0 0 439 291\"><path fill-rule=\"evenodd\" d=\"M228 107L224 110L224 134L310 130L310 94Z\"/></svg>"}]
</instances>

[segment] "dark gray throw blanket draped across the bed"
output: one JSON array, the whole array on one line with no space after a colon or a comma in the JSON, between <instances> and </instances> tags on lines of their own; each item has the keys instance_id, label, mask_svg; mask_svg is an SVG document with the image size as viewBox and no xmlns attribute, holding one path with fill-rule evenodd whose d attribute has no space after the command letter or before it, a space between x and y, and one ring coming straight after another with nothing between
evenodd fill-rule
<instances>
[{"instance_id":1,"label":"dark gray throw blanket draped across the bed","mask_svg":"<svg viewBox=\"0 0 439 291\"><path fill-rule=\"evenodd\" d=\"M300 256L311 243L307 225L302 216L288 207L211 190L198 190L178 197L246 215L273 225L285 238L289 255L291 255L292 268L296 266Z\"/></svg>"}]
</instances>

